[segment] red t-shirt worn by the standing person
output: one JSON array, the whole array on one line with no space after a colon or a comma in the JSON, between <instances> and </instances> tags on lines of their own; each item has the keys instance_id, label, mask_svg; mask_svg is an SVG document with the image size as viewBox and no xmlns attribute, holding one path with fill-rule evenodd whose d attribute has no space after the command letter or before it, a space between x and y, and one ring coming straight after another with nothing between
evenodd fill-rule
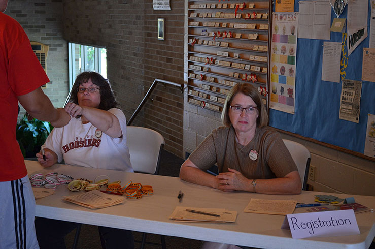
<instances>
[{"instance_id":1,"label":"red t-shirt worn by the standing person","mask_svg":"<svg viewBox=\"0 0 375 249\"><path fill-rule=\"evenodd\" d=\"M0 13L0 181L27 174L16 141L17 96L49 82L21 25Z\"/></svg>"}]
</instances>

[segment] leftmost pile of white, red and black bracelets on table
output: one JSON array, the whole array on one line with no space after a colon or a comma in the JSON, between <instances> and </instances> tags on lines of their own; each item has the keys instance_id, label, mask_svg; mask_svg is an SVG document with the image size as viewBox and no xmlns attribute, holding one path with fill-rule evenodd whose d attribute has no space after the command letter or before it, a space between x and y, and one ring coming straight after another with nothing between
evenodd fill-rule
<instances>
[{"instance_id":1,"label":"leftmost pile of white, red and black bracelets on table","mask_svg":"<svg viewBox=\"0 0 375 249\"><path fill-rule=\"evenodd\" d=\"M69 184L73 181L73 177L65 174L58 174L57 172L51 172L46 175L41 173L33 174L30 177L31 186L33 187L44 187L47 189L56 189L57 186L63 184Z\"/></svg>"}]
</instances>

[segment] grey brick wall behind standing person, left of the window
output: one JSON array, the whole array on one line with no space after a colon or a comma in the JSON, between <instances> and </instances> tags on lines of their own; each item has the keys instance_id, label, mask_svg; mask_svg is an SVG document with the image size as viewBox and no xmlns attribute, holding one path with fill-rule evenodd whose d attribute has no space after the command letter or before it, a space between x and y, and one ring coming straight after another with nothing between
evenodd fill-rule
<instances>
[{"instance_id":1,"label":"grey brick wall behind standing person, left of the window","mask_svg":"<svg viewBox=\"0 0 375 249\"><path fill-rule=\"evenodd\" d=\"M5 14L16 19L30 41L49 46L46 60L51 80L44 92L55 107L62 107L68 94L67 42L62 38L62 0L9 0ZM19 118L25 113L21 108Z\"/></svg>"}]
</instances>

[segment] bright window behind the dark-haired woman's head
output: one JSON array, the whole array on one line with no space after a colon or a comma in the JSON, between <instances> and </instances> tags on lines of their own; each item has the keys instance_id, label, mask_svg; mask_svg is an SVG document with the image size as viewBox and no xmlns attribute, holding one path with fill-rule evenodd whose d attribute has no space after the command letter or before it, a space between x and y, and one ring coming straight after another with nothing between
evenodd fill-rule
<instances>
[{"instance_id":1,"label":"bright window behind the dark-haired woman's head","mask_svg":"<svg viewBox=\"0 0 375 249\"><path fill-rule=\"evenodd\" d=\"M84 71L95 71L107 78L107 49L69 43L69 89L76 76Z\"/></svg>"}]
</instances>

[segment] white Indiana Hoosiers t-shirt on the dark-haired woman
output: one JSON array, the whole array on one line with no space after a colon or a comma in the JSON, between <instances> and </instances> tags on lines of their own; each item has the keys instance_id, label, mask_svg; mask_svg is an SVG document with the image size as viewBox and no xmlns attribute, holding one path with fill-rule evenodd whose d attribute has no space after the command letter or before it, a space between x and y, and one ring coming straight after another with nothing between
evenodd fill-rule
<instances>
[{"instance_id":1,"label":"white Indiana Hoosiers t-shirt on the dark-haired woman","mask_svg":"<svg viewBox=\"0 0 375 249\"><path fill-rule=\"evenodd\" d=\"M122 131L121 138L112 138L90 122L72 118L61 128L54 128L44 143L45 148L57 154L57 161L89 168L133 172L129 148L126 146L126 118L117 108L108 110L115 115Z\"/></svg>"}]
</instances>

